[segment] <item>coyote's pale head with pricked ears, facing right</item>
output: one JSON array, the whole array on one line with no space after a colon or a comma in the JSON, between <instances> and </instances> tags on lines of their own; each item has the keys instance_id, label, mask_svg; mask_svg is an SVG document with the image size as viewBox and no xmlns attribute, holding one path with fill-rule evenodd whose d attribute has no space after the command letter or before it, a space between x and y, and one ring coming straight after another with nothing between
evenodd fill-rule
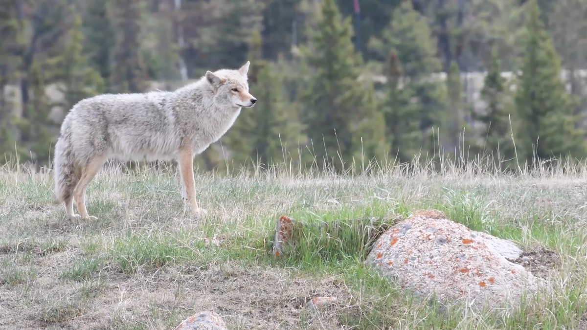
<instances>
[{"instance_id":1,"label":"coyote's pale head with pricked ears, facing right","mask_svg":"<svg viewBox=\"0 0 587 330\"><path fill-rule=\"evenodd\" d=\"M206 80L212 86L214 102L234 107L252 107L257 102L249 93L247 72L251 62L247 61L238 70L221 69L206 72Z\"/></svg>"}]
</instances>

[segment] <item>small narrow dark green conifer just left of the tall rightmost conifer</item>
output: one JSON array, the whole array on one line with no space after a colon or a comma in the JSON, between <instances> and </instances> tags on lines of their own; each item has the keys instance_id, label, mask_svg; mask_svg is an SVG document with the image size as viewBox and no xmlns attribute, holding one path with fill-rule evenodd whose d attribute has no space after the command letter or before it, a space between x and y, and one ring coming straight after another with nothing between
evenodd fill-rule
<instances>
[{"instance_id":1,"label":"small narrow dark green conifer just left of the tall rightmost conifer","mask_svg":"<svg viewBox=\"0 0 587 330\"><path fill-rule=\"evenodd\" d=\"M497 53L497 48L492 50L491 66L485 76L483 89L481 89L481 99L487 106L484 113L475 115L486 127L485 149L497 156L499 150L500 156L505 159L514 157L513 143L510 137L510 113L508 113L507 93L505 91L505 79L501 76L501 62Z\"/></svg>"}]
</instances>

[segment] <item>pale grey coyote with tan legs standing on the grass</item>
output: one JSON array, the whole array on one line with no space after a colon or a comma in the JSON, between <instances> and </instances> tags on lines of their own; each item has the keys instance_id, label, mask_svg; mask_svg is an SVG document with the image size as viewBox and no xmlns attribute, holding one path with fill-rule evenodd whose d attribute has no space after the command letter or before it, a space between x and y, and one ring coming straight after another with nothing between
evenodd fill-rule
<instances>
[{"instance_id":1,"label":"pale grey coyote with tan legs standing on the grass","mask_svg":"<svg viewBox=\"0 0 587 330\"><path fill-rule=\"evenodd\" d=\"M68 217L96 219L87 214L86 188L108 159L176 160L183 200L194 215L205 214L195 198L194 156L230 129L242 107L257 102L249 93L249 64L207 71L174 92L104 94L73 106L54 161L55 194ZM73 213L73 198L79 214Z\"/></svg>"}]
</instances>

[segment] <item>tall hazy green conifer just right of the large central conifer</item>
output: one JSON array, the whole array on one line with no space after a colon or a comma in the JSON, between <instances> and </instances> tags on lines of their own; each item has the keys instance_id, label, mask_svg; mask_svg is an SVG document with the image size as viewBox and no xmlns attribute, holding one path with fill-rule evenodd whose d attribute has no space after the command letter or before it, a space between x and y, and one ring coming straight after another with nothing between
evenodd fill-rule
<instances>
[{"instance_id":1,"label":"tall hazy green conifer just right of the large central conifer","mask_svg":"<svg viewBox=\"0 0 587 330\"><path fill-rule=\"evenodd\" d=\"M447 99L446 86L430 79L431 75L442 70L442 66L436 58L436 43L426 18L413 9L411 1L404 0L393 11L392 21L382 36L370 39L369 48L375 59L383 63L389 63L390 52L396 52L393 56L397 57L397 65L401 67L401 76L392 77L391 85L386 86L387 136L395 153L391 156L397 154L402 156L402 161L407 161L414 157L416 150L423 155L431 154L434 140L438 139L433 136L433 129L437 130L446 117ZM389 69L389 64L385 66ZM393 122L396 116L404 120L402 124ZM409 126L403 126L406 120ZM420 137L416 137L414 125L419 126Z\"/></svg>"}]
</instances>

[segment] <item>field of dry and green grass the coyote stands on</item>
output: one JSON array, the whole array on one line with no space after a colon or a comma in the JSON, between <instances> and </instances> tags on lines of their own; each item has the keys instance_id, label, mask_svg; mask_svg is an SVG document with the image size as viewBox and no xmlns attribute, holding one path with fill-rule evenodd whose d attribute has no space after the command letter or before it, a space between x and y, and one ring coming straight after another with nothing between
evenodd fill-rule
<instances>
[{"instance_id":1,"label":"field of dry and green grass the coyote stands on","mask_svg":"<svg viewBox=\"0 0 587 330\"><path fill-rule=\"evenodd\" d=\"M53 203L52 174L0 171L0 319L6 326L173 328L207 309L232 329L527 329L582 326L587 312L587 167L509 175L481 164L372 175L196 177L208 215L184 213L176 172L103 170L87 191L95 221ZM551 292L504 318L420 301L363 266L367 228L434 208L473 230L547 248ZM275 221L298 243L271 254ZM220 246L205 245L217 237ZM322 311L304 307L337 297Z\"/></svg>"}]
</instances>

